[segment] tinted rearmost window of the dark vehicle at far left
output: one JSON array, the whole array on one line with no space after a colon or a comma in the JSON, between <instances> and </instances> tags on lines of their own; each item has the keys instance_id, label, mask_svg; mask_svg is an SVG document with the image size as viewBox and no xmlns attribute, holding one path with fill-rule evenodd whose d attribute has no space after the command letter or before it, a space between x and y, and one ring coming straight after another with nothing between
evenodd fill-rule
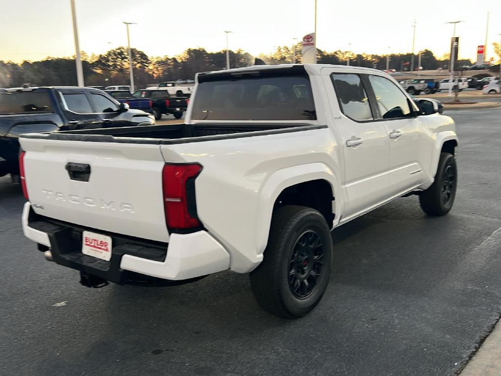
<instances>
[{"instance_id":1,"label":"tinted rearmost window of the dark vehicle at far left","mask_svg":"<svg viewBox=\"0 0 501 376\"><path fill-rule=\"evenodd\" d=\"M0 114L53 112L48 92L0 94Z\"/></svg>"}]
</instances>

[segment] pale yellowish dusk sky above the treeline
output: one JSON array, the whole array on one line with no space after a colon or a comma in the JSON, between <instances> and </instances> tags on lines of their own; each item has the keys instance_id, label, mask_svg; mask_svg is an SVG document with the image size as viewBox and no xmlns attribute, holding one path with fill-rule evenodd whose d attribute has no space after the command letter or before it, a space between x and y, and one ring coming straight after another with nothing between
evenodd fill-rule
<instances>
[{"instance_id":1,"label":"pale yellowish dusk sky above the treeline","mask_svg":"<svg viewBox=\"0 0 501 376\"><path fill-rule=\"evenodd\" d=\"M255 56L314 30L314 0L75 0L80 49L101 54L127 45L122 21L131 26L131 46L148 56L174 56L187 48L207 51L241 48ZM477 5L478 4L478 5ZM0 60L21 62L75 54L70 0L0 0ZM317 47L325 51L405 53L430 49L447 52L457 26L459 57L475 59L485 40L490 11L487 57L501 36L501 2L442 0L375 2L318 0ZM351 43L351 46L349 45Z\"/></svg>"}]
</instances>

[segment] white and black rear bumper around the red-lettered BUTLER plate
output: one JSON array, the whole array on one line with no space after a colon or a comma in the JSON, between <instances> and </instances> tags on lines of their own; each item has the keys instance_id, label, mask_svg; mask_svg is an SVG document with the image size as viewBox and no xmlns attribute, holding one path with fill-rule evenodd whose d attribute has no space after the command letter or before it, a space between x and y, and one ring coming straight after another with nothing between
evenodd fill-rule
<instances>
[{"instance_id":1,"label":"white and black rear bumper around the red-lettered BUTLER plate","mask_svg":"<svg viewBox=\"0 0 501 376\"><path fill-rule=\"evenodd\" d=\"M22 223L25 236L49 247L56 263L110 282L179 281L229 269L228 253L206 231L171 234L168 244L153 242L52 220L35 214L29 202L24 206ZM111 236L110 261L81 252L84 230Z\"/></svg>"}]
</instances>

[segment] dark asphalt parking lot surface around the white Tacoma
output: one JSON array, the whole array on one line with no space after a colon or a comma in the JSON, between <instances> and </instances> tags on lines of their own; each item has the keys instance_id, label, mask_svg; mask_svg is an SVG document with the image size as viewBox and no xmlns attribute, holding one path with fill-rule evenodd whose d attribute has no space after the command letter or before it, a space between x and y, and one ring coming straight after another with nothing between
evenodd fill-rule
<instances>
[{"instance_id":1,"label":"dark asphalt parking lot surface around the white Tacoma","mask_svg":"<svg viewBox=\"0 0 501 376\"><path fill-rule=\"evenodd\" d=\"M89 289L24 238L23 196L0 178L0 374L452 375L501 306L501 109L455 110L451 213L399 199L333 233L320 305L283 320L248 278ZM165 118L165 117L164 117Z\"/></svg>"}]
</instances>

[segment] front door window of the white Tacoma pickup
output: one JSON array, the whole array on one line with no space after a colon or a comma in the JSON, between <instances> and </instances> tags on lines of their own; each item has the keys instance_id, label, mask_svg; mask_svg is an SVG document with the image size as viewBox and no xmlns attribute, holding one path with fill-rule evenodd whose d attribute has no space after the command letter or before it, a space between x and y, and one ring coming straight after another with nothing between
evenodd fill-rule
<instances>
[{"instance_id":1,"label":"front door window of the white Tacoma pickup","mask_svg":"<svg viewBox=\"0 0 501 376\"><path fill-rule=\"evenodd\" d=\"M410 117L409 103L404 93L390 80L381 76L369 76L376 101L383 119Z\"/></svg>"}]
</instances>

